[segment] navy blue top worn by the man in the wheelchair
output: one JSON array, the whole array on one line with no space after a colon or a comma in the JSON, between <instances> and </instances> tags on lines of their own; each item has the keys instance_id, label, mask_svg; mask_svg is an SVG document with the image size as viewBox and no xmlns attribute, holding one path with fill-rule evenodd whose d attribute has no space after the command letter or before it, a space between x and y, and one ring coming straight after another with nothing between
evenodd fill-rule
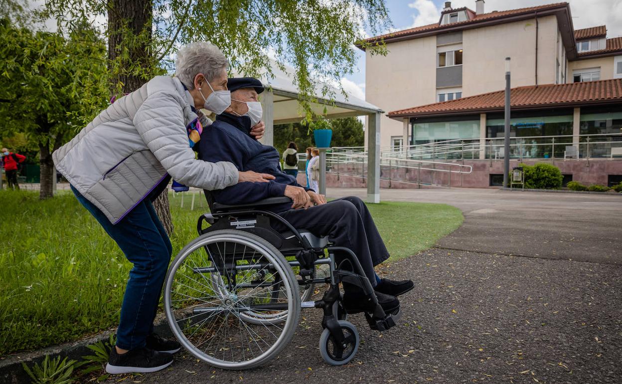
<instances>
[{"instance_id":1,"label":"navy blue top worn by the man in the wheelchair","mask_svg":"<svg viewBox=\"0 0 622 384\"><path fill-rule=\"evenodd\" d=\"M264 146L250 135L251 119L248 116L234 116L223 113L216 121L203 129L198 142L198 156L204 161L232 162L239 171L255 171L271 174L276 179L269 182L241 182L221 190L211 191L215 202L220 204L246 204L283 196L285 186L302 187L294 176L281 171L279 151L272 146ZM305 190L307 190L305 188ZM274 212L283 212L291 204L272 207Z\"/></svg>"}]
</instances>

